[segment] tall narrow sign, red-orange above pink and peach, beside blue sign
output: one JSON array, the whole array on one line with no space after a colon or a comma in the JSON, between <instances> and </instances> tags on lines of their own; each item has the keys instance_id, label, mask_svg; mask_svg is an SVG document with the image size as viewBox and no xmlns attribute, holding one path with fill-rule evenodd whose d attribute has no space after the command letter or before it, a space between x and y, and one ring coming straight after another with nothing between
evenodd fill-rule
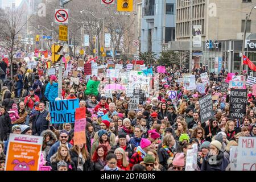
<instances>
[{"instance_id":1,"label":"tall narrow sign, red-orange above pink and peach, beside blue sign","mask_svg":"<svg viewBox=\"0 0 256 182\"><path fill-rule=\"evenodd\" d=\"M86 127L86 117L85 117L85 107L76 109L76 122L74 127L74 144L84 144L86 143L85 127Z\"/></svg>"}]
</instances>

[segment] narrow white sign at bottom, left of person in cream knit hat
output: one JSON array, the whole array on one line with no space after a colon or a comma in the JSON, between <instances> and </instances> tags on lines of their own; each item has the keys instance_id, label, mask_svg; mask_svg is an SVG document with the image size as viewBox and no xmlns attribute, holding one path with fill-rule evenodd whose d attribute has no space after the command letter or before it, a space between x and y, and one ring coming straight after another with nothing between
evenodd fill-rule
<instances>
[{"instance_id":1,"label":"narrow white sign at bottom, left of person in cream knit hat","mask_svg":"<svg viewBox=\"0 0 256 182\"><path fill-rule=\"evenodd\" d=\"M192 149L187 151L185 171L195 171L197 168L197 144L192 145Z\"/></svg>"}]
</instances>

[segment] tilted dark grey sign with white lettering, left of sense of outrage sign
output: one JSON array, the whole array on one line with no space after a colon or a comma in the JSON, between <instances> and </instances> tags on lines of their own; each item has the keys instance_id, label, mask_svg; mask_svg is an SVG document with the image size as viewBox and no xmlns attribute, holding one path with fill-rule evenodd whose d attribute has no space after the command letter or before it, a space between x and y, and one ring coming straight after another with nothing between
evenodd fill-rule
<instances>
[{"instance_id":1,"label":"tilted dark grey sign with white lettering, left of sense of outrage sign","mask_svg":"<svg viewBox=\"0 0 256 182\"><path fill-rule=\"evenodd\" d=\"M200 116L201 116L202 123L214 117L211 94L208 94L207 96L200 98L199 105L200 105Z\"/></svg>"}]
</instances>

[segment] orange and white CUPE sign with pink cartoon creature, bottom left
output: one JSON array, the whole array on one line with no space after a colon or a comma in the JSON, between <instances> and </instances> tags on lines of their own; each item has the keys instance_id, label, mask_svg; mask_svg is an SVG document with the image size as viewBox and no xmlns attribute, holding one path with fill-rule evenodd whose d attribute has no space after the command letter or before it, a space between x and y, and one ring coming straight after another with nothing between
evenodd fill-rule
<instances>
[{"instance_id":1,"label":"orange and white CUPE sign with pink cartoon creature, bottom left","mask_svg":"<svg viewBox=\"0 0 256 182\"><path fill-rule=\"evenodd\" d=\"M38 171L43 137L11 133L5 171Z\"/></svg>"}]
</instances>

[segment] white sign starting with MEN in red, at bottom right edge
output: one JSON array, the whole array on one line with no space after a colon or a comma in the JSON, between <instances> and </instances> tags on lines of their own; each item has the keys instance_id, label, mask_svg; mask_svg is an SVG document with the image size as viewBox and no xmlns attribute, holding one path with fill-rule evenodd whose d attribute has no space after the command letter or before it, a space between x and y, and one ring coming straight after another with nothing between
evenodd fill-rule
<instances>
[{"instance_id":1,"label":"white sign starting with MEN in red, at bottom right edge","mask_svg":"<svg viewBox=\"0 0 256 182\"><path fill-rule=\"evenodd\" d=\"M256 137L239 137L237 171L256 171Z\"/></svg>"}]
</instances>

